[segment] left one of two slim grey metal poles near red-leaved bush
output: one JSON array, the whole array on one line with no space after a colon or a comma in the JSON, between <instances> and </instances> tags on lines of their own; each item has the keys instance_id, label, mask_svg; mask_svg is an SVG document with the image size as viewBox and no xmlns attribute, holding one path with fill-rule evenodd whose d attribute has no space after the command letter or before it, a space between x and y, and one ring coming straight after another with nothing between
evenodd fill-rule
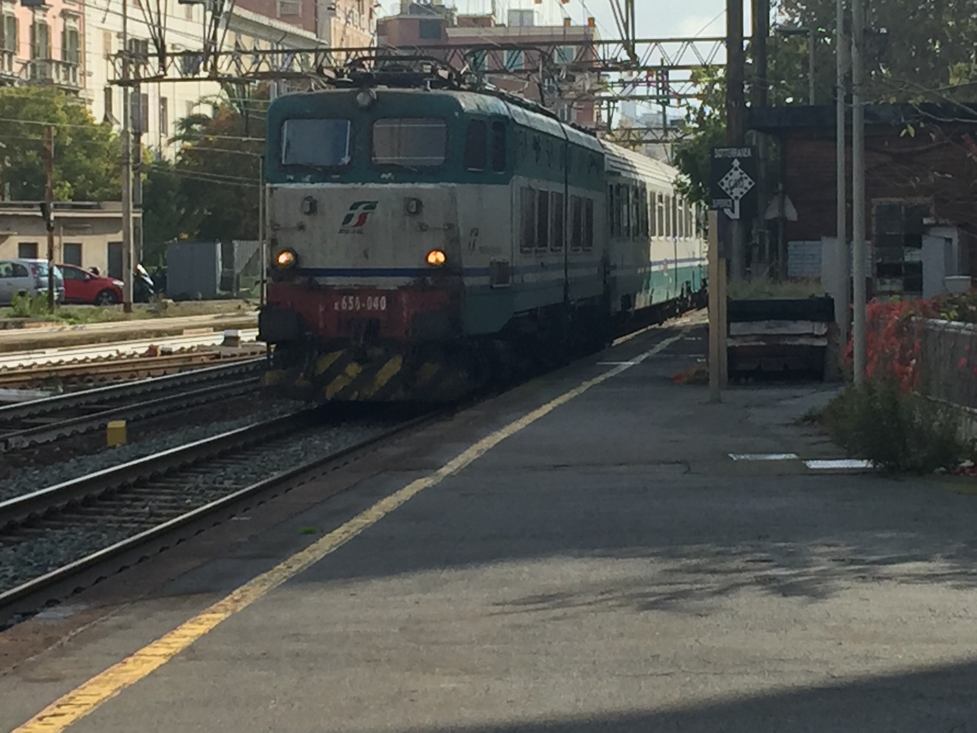
<instances>
[{"instance_id":1,"label":"left one of two slim grey metal poles near red-leaved bush","mask_svg":"<svg viewBox=\"0 0 977 733\"><path fill-rule=\"evenodd\" d=\"M845 169L845 74L848 72L848 47L845 36L845 0L835 0L834 4L837 29L835 30L834 62L835 62L835 101L834 101L834 133L835 133L835 216L837 219L837 267L841 277L841 297L834 304L834 320L838 325L838 347L844 352L848 344L848 307L851 303L851 249L848 247L848 182Z\"/></svg>"}]
</instances>

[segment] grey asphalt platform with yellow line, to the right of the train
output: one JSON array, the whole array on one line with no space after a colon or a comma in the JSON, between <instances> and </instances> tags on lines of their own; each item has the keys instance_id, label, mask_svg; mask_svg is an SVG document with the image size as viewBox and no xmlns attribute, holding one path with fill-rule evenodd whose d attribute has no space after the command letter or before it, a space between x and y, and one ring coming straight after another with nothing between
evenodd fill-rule
<instances>
[{"instance_id":1,"label":"grey asphalt platform with yellow line, to the right of the train","mask_svg":"<svg viewBox=\"0 0 977 733\"><path fill-rule=\"evenodd\" d=\"M0 729L977 730L975 498L809 469L831 391L708 405L667 378L704 348L648 331L0 634Z\"/></svg>"}]
</instances>

